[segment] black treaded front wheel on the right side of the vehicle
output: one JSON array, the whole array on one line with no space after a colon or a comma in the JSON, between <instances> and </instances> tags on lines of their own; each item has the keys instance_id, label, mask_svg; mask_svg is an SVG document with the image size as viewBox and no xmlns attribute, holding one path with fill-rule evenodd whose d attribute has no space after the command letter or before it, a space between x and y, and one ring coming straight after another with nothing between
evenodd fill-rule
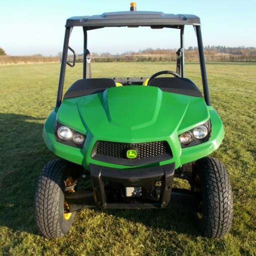
<instances>
[{"instance_id":1,"label":"black treaded front wheel on the right side of the vehicle","mask_svg":"<svg viewBox=\"0 0 256 256\"><path fill-rule=\"evenodd\" d=\"M192 179L198 202L195 223L202 236L224 236L233 218L232 190L224 165L211 157L199 159L193 166Z\"/></svg>"}]
</instances>

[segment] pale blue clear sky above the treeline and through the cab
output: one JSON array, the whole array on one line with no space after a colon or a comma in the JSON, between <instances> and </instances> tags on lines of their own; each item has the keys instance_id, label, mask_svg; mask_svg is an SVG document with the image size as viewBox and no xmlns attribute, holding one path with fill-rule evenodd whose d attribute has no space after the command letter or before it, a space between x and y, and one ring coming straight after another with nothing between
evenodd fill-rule
<instances>
[{"instance_id":1,"label":"pale blue clear sky above the treeline and through the cab","mask_svg":"<svg viewBox=\"0 0 256 256\"><path fill-rule=\"evenodd\" d=\"M73 16L129 11L126 0L1 0L0 48L8 55L56 56L62 51L66 20ZM137 11L193 14L201 20L204 46L256 47L256 1L254 0L137 0ZM72 32L70 45L82 53L81 28ZM168 30L168 29L167 29ZM151 34L147 34L151 32ZM179 45L169 30L102 29L89 34L88 48L98 54L153 49ZM193 30L185 31L185 48L196 46ZM120 41L118 41L120 40Z\"/></svg>"}]
</instances>

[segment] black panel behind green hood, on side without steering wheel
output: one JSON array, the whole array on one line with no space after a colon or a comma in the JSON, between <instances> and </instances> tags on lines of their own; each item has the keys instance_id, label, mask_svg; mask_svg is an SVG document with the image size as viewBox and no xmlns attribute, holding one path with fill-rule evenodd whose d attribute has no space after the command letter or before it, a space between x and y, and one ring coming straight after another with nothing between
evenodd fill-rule
<instances>
[{"instance_id":1,"label":"black panel behind green hood, on side without steering wheel","mask_svg":"<svg viewBox=\"0 0 256 256\"><path fill-rule=\"evenodd\" d=\"M116 87L111 78L87 78L77 80L65 93L64 99L100 93L110 87Z\"/></svg>"}]
</instances>

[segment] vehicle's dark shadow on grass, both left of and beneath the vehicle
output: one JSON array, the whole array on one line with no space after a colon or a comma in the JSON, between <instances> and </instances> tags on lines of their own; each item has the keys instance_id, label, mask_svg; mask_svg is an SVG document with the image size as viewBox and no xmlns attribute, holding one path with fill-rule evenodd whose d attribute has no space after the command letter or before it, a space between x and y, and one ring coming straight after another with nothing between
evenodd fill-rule
<instances>
[{"instance_id":1,"label":"vehicle's dark shadow on grass, both left of and beneath the vehicle","mask_svg":"<svg viewBox=\"0 0 256 256\"><path fill-rule=\"evenodd\" d=\"M0 129L6 133L0 149L0 225L32 234L38 234L34 214L37 180L44 165L56 158L42 138L44 121L45 118L0 114ZM198 235L191 214L181 209L94 210L152 228Z\"/></svg>"}]
</instances>

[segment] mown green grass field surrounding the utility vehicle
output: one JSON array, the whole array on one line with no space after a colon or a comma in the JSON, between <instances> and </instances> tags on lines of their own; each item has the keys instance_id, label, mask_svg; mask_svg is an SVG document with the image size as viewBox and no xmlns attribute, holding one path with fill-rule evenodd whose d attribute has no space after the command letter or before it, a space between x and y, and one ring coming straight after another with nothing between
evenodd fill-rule
<instances>
[{"instance_id":1,"label":"mown green grass field surrounding the utility vehicle","mask_svg":"<svg viewBox=\"0 0 256 256\"><path fill-rule=\"evenodd\" d=\"M175 65L93 63L108 77L149 76ZM78 68L81 68L78 65ZM202 238L189 212L80 210L70 232L58 239L38 234L34 195L43 166L55 156L42 139L55 106L59 64L0 66L0 255L256 255L256 64L207 64L211 102L222 118L225 138L213 153L226 166L233 189L234 218L224 238ZM68 68L72 79L81 71ZM200 82L188 64L186 76Z\"/></svg>"}]
</instances>

